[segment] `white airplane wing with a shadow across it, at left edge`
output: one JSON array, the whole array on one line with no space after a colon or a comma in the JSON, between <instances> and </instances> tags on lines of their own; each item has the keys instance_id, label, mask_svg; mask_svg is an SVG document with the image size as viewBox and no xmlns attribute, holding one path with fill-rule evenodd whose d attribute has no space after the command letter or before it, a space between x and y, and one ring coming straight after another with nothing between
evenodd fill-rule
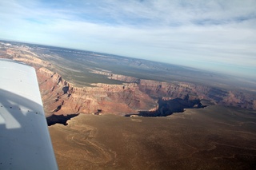
<instances>
[{"instance_id":1,"label":"white airplane wing with a shadow across it, at left edge","mask_svg":"<svg viewBox=\"0 0 256 170\"><path fill-rule=\"evenodd\" d=\"M0 59L0 169L58 169L35 69Z\"/></svg>"}]
</instances>

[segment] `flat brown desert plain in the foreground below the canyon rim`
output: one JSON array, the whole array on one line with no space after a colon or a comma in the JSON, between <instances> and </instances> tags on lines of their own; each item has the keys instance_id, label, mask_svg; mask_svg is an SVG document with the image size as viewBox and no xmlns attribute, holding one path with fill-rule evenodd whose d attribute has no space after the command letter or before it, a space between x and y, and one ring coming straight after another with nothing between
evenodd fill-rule
<instances>
[{"instance_id":1,"label":"flat brown desert plain in the foreground below the canyon rim","mask_svg":"<svg viewBox=\"0 0 256 170\"><path fill-rule=\"evenodd\" d=\"M60 169L256 169L255 116L211 105L169 117L80 114L49 129Z\"/></svg>"}]
</instances>

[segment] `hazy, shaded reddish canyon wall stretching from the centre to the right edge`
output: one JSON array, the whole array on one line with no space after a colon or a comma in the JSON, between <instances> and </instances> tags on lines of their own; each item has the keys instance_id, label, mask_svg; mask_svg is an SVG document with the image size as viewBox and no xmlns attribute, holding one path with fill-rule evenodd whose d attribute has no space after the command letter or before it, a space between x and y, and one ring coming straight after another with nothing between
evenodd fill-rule
<instances>
[{"instance_id":1,"label":"hazy, shaded reddish canyon wall stretching from the centre to the right edge","mask_svg":"<svg viewBox=\"0 0 256 170\"><path fill-rule=\"evenodd\" d=\"M256 109L256 95L235 90L217 89L206 85L195 85L187 82L162 82L136 79L123 75L112 74L110 79L136 83L142 93L150 97L184 98L209 100L214 105L233 105L246 109Z\"/></svg>"}]
</instances>

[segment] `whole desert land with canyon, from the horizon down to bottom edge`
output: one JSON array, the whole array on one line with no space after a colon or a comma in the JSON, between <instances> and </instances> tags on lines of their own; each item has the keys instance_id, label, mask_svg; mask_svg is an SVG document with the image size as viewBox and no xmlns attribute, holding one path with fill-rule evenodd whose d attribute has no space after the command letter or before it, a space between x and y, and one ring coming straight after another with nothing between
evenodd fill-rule
<instances>
[{"instance_id":1,"label":"whole desert land with canyon, from the horizon down to bottom edge","mask_svg":"<svg viewBox=\"0 0 256 170\"><path fill-rule=\"evenodd\" d=\"M60 169L254 169L256 83L130 57L1 42L34 66Z\"/></svg>"}]
</instances>

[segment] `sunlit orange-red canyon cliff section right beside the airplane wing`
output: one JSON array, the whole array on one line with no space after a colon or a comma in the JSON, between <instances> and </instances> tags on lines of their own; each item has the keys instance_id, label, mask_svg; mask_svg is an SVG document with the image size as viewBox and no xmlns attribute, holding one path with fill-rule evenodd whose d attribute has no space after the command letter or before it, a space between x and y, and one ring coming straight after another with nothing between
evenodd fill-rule
<instances>
[{"instance_id":1,"label":"sunlit orange-red canyon cliff section right beside the airplane wing","mask_svg":"<svg viewBox=\"0 0 256 170\"><path fill-rule=\"evenodd\" d=\"M46 115L73 113L138 113L155 107L154 99L142 93L137 84L107 85L78 88L58 73L46 68L37 71Z\"/></svg>"}]
</instances>

